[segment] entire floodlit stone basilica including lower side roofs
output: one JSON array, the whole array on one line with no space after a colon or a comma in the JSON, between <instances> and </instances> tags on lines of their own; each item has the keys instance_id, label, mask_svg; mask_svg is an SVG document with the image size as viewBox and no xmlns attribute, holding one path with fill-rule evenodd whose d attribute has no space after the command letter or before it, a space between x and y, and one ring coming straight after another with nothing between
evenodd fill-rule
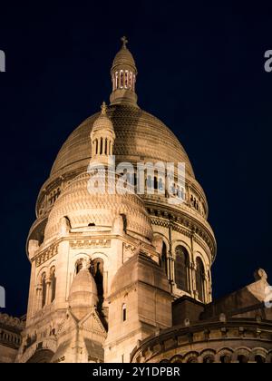
<instances>
[{"instance_id":1,"label":"entire floodlit stone basilica including lower side roofs","mask_svg":"<svg viewBox=\"0 0 272 381\"><path fill-rule=\"evenodd\" d=\"M267 274L213 299L208 201L178 138L138 105L127 45L112 63L110 103L72 132L41 187L27 314L0 314L0 362L271 363ZM132 168L183 163L184 176L169 181L156 167L138 192L113 157ZM116 191L98 190L102 168Z\"/></svg>"}]
</instances>

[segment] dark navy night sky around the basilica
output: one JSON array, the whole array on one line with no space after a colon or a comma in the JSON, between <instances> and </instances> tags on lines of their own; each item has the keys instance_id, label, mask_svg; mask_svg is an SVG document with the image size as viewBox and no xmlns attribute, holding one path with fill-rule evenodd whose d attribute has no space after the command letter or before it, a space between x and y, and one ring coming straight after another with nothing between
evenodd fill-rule
<instances>
[{"instance_id":1,"label":"dark navy night sky around the basilica","mask_svg":"<svg viewBox=\"0 0 272 381\"><path fill-rule=\"evenodd\" d=\"M1 3L1 312L26 312L36 197L67 136L109 102L122 35L139 105L179 137L209 200L214 296L258 267L272 279L272 5L254 3Z\"/></svg>"}]
</instances>

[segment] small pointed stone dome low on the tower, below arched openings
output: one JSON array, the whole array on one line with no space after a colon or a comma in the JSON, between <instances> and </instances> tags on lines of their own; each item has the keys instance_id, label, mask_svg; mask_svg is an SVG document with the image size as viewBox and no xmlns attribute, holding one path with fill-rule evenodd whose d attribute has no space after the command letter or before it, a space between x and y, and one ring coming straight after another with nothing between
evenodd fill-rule
<instances>
[{"instance_id":1,"label":"small pointed stone dome low on the tower, below arched openings","mask_svg":"<svg viewBox=\"0 0 272 381\"><path fill-rule=\"evenodd\" d=\"M81 319L98 303L97 287L92 274L86 267L73 279L70 289L69 306L73 315Z\"/></svg>"}]
</instances>

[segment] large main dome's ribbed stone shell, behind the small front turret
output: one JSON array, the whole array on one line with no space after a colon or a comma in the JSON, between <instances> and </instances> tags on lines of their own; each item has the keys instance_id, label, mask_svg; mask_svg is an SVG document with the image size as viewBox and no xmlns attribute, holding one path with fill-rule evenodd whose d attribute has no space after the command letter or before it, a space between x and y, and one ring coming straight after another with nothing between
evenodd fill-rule
<instances>
[{"instance_id":1,"label":"large main dome's ribbed stone shell, behind the small front turret","mask_svg":"<svg viewBox=\"0 0 272 381\"><path fill-rule=\"evenodd\" d=\"M158 118L125 104L109 106L107 115L116 134L113 154L117 162L185 162L188 174L194 177L189 158L179 140ZM69 136L54 161L51 176L61 176L80 168L86 171L92 151L90 132L98 116L99 113L95 113L89 117Z\"/></svg>"}]
</instances>

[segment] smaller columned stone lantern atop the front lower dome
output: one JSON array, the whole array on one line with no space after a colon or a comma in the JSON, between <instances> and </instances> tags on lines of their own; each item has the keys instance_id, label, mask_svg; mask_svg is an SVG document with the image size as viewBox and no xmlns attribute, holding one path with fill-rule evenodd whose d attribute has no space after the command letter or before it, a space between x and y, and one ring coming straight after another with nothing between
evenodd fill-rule
<instances>
[{"instance_id":1,"label":"smaller columned stone lantern atop the front lower dome","mask_svg":"<svg viewBox=\"0 0 272 381\"><path fill-rule=\"evenodd\" d=\"M92 162L107 164L109 157L112 156L115 132L107 114L106 103L102 103L101 110L101 114L92 126Z\"/></svg>"}]
</instances>

